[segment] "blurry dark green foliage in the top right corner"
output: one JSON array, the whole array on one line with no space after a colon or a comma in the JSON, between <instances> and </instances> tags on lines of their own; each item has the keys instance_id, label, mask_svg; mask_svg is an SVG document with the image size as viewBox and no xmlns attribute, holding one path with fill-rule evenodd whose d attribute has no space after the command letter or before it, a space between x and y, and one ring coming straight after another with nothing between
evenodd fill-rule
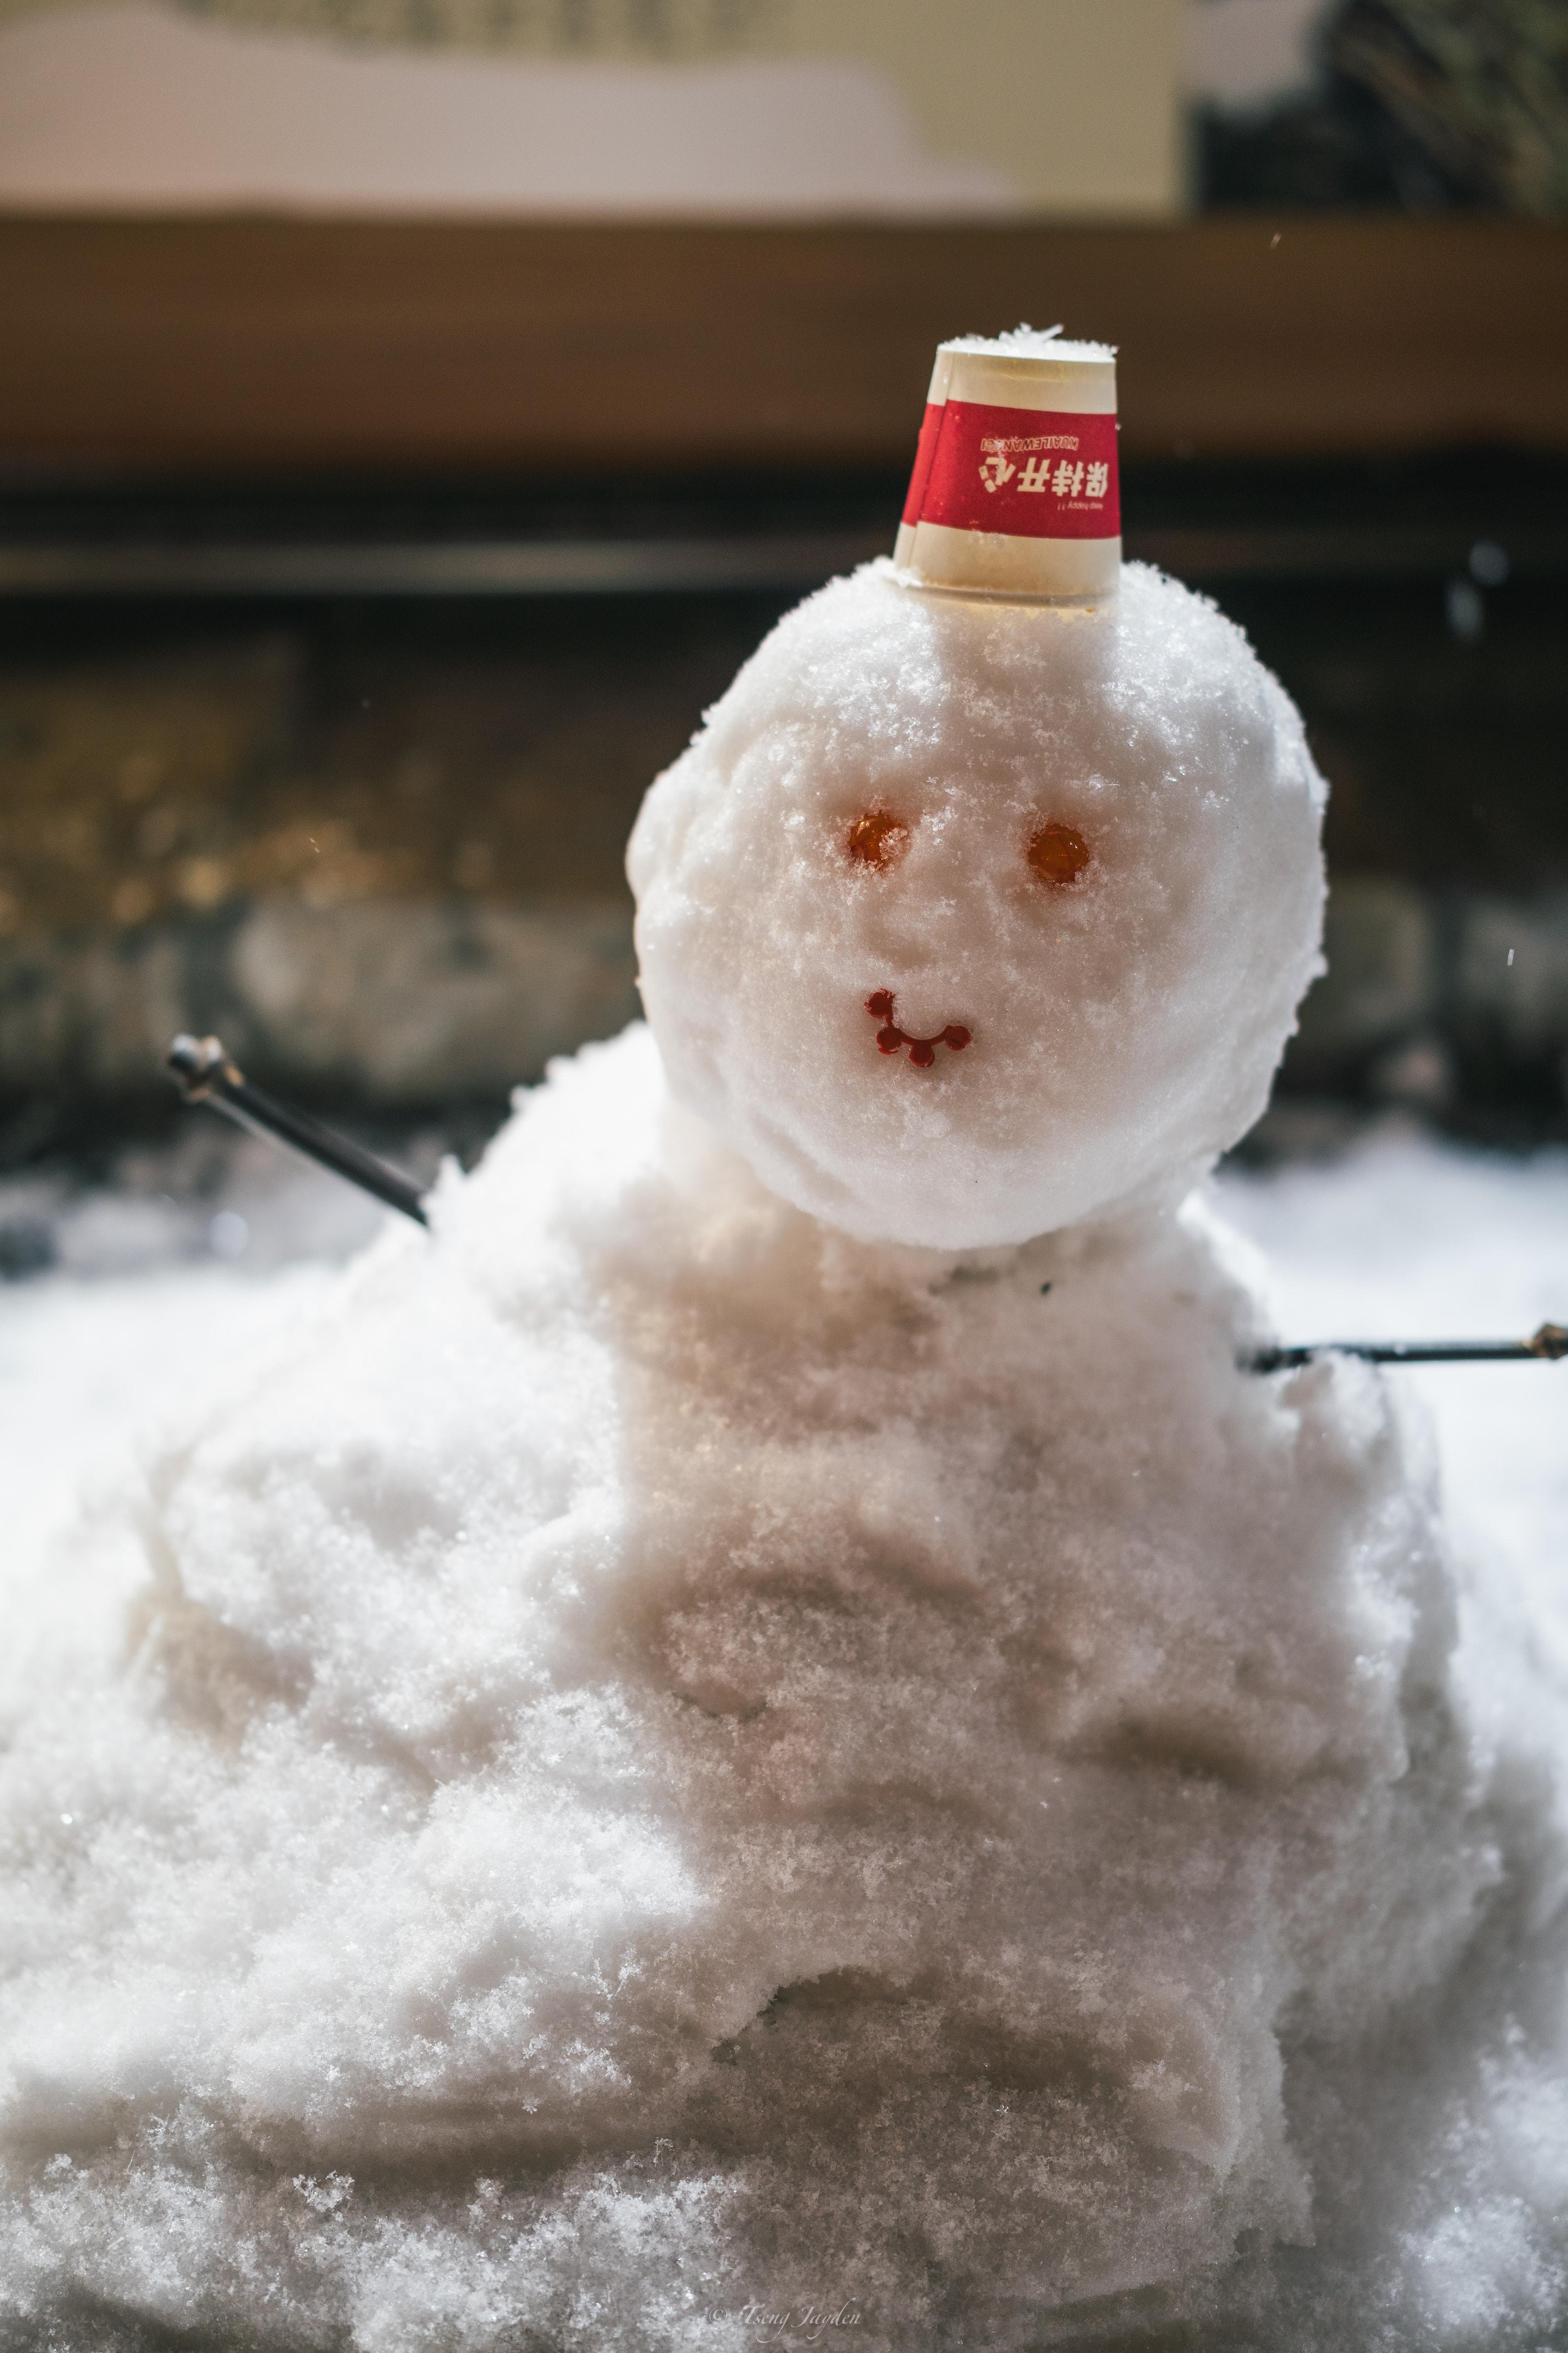
<instances>
[{"instance_id":1,"label":"blurry dark green foliage in the top right corner","mask_svg":"<svg viewBox=\"0 0 1568 2353\"><path fill-rule=\"evenodd\" d=\"M1476 202L1568 212L1563 0L1349 0L1326 59Z\"/></svg>"}]
</instances>

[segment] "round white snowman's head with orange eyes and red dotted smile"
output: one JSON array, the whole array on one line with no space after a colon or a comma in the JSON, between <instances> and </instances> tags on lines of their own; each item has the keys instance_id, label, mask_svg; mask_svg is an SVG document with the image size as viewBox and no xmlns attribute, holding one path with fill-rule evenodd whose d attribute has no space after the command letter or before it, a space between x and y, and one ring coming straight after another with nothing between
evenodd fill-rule
<instances>
[{"instance_id":1,"label":"round white snowman's head with orange eyes and red dotted smile","mask_svg":"<svg viewBox=\"0 0 1568 2353\"><path fill-rule=\"evenodd\" d=\"M670 1087L863 1240L1020 1242L1192 1181L1319 969L1324 784L1213 605L788 614L628 854Z\"/></svg>"}]
</instances>

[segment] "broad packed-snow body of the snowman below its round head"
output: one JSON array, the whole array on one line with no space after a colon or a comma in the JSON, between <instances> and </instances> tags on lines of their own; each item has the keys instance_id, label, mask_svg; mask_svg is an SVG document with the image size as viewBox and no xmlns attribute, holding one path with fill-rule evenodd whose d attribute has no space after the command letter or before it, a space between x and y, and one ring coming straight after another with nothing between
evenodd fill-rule
<instances>
[{"instance_id":1,"label":"broad packed-snow body of the snowman below its round head","mask_svg":"<svg viewBox=\"0 0 1568 2353\"><path fill-rule=\"evenodd\" d=\"M2 1664L0 2344L1540 2329L1547 1701L1234 1259L856 1242L557 1068Z\"/></svg>"}]
</instances>

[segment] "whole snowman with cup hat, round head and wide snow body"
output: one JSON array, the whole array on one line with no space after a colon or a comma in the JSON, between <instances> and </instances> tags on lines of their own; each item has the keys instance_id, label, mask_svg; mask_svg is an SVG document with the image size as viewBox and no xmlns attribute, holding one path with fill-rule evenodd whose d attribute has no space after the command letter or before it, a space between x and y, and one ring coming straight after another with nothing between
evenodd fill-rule
<instances>
[{"instance_id":1,"label":"whole snowman with cup hat, round head and wide snow body","mask_svg":"<svg viewBox=\"0 0 1568 2353\"><path fill-rule=\"evenodd\" d=\"M1552 2322L1554 1800L1387 1384L1241 1369L1324 786L1110 369L945 348L903 560L646 798L649 1026L61 1562L16 2341L1415 2346L1502 2207L1462 2341Z\"/></svg>"}]
</instances>

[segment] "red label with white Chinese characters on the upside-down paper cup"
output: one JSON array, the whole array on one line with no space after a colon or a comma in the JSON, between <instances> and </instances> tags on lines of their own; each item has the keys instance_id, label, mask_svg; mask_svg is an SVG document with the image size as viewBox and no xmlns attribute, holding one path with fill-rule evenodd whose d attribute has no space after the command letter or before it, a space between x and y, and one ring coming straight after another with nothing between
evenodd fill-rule
<instances>
[{"instance_id":1,"label":"red label with white Chinese characters on the upside-down paper cup","mask_svg":"<svg viewBox=\"0 0 1568 2353\"><path fill-rule=\"evenodd\" d=\"M1117 539L1117 419L978 400L929 407L903 520L1009 539Z\"/></svg>"}]
</instances>

